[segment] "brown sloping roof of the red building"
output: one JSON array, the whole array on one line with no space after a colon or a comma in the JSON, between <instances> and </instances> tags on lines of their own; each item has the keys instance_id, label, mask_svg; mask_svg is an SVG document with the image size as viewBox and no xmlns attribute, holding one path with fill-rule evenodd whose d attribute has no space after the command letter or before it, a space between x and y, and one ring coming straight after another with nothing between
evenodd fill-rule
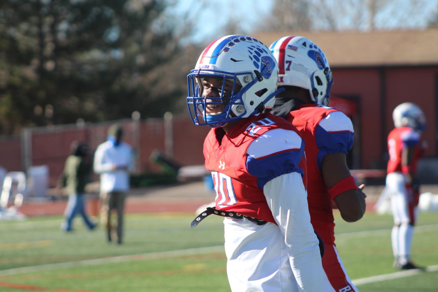
<instances>
[{"instance_id":1,"label":"brown sloping roof of the red building","mask_svg":"<svg viewBox=\"0 0 438 292\"><path fill-rule=\"evenodd\" d=\"M372 32L258 32L269 46L286 35L305 36L324 50L330 67L438 65L438 28Z\"/></svg>"}]
</instances>

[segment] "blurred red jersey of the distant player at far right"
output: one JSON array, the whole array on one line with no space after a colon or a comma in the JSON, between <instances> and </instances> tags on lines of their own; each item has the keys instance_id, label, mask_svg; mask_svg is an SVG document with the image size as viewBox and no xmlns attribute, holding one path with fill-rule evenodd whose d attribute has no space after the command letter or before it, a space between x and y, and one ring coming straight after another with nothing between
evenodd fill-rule
<instances>
[{"instance_id":1,"label":"blurred red jersey of the distant player at far right","mask_svg":"<svg viewBox=\"0 0 438 292\"><path fill-rule=\"evenodd\" d=\"M414 157L411 168L417 171L417 162L421 157L423 149L420 143L420 134L410 127L399 127L392 130L388 135L389 161L386 171L402 172L402 151L405 147L413 146Z\"/></svg>"}]
</instances>

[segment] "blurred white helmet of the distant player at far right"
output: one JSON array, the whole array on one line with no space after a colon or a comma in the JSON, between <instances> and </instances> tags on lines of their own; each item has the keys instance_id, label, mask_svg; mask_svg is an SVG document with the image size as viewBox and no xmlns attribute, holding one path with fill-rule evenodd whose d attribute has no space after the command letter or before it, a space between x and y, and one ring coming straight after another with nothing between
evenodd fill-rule
<instances>
[{"instance_id":1,"label":"blurred white helmet of the distant player at far right","mask_svg":"<svg viewBox=\"0 0 438 292\"><path fill-rule=\"evenodd\" d=\"M396 106L392 111L392 120L396 128L410 127L417 131L423 131L426 128L426 117L423 111L412 102L403 102Z\"/></svg>"}]
</instances>

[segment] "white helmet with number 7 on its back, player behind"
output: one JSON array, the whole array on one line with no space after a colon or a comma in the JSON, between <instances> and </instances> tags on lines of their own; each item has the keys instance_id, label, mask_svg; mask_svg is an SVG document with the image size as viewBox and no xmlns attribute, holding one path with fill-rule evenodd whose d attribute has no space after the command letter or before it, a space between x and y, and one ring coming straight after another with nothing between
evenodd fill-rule
<instances>
[{"instance_id":1,"label":"white helmet with number 7 on its back, player behind","mask_svg":"<svg viewBox=\"0 0 438 292\"><path fill-rule=\"evenodd\" d=\"M269 47L279 66L278 85L308 89L314 103L329 104L333 84L329 61L320 47L302 36L285 36Z\"/></svg>"}]
</instances>

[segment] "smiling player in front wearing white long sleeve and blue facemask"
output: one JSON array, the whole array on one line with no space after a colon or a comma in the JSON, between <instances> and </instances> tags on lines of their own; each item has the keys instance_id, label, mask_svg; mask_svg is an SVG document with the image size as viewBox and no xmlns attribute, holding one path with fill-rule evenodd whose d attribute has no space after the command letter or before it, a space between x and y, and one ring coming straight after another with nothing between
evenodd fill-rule
<instances>
[{"instance_id":1,"label":"smiling player in front wearing white long sleeve and blue facemask","mask_svg":"<svg viewBox=\"0 0 438 292\"><path fill-rule=\"evenodd\" d=\"M224 218L227 274L233 292L326 292L318 239L303 183L304 141L286 120L262 113L277 91L269 49L246 35L228 35L202 52L187 76L187 106L208 125L205 168L212 172Z\"/></svg>"}]
</instances>

